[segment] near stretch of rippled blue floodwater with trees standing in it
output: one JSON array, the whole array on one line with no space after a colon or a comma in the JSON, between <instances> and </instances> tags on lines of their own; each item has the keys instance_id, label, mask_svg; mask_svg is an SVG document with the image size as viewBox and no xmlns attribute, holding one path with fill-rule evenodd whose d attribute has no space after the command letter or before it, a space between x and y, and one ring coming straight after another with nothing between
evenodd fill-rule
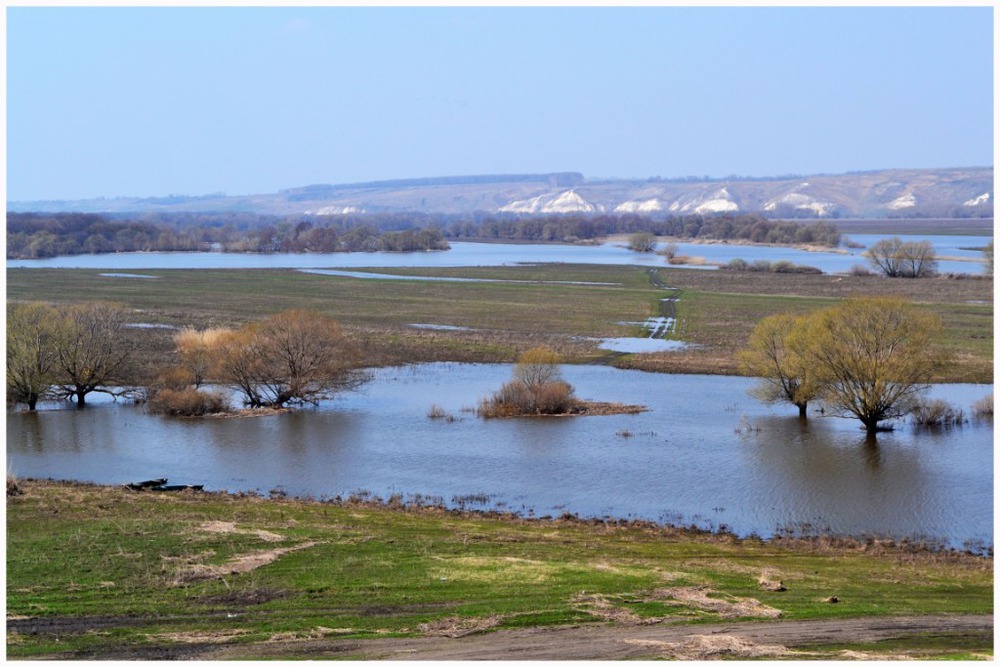
<instances>
[{"instance_id":1,"label":"near stretch of rippled blue floodwater with trees standing in it","mask_svg":"<svg viewBox=\"0 0 1000 667\"><path fill-rule=\"evenodd\" d=\"M510 365L419 364L376 370L359 391L317 408L265 417L188 420L99 402L8 412L8 465L23 477L167 477L315 498L420 494L526 516L725 525L763 537L792 529L993 544L991 421L900 423L873 447L854 420L802 422L793 407L761 405L747 378L563 371L581 398L649 409L483 420L470 410L510 378ZM992 391L942 385L932 396L968 415ZM431 419L435 405L450 418Z\"/></svg>"}]
</instances>

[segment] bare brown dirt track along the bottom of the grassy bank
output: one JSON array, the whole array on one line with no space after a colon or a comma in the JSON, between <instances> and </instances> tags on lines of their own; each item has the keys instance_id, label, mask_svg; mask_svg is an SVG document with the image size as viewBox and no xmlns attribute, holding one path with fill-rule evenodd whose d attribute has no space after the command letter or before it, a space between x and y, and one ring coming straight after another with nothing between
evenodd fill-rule
<instances>
[{"instance_id":1,"label":"bare brown dirt track along the bottom of the grassy bank","mask_svg":"<svg viewBox=\"0 0 1000 667\"><path fill-rule=\"evenodd\" d=\"M622 660L708 657L794 657L796 648L872 643L920 634L967 635L992 645L993 617L919 616L713 623L710 625L583 625L501 630L460 638L323 639L243 647L206 647L200 659L358 658L366 660ZM863 654L840 657L865 658ZM879 654L877 657L893 657Z\"/></svg>"}]
</instances>

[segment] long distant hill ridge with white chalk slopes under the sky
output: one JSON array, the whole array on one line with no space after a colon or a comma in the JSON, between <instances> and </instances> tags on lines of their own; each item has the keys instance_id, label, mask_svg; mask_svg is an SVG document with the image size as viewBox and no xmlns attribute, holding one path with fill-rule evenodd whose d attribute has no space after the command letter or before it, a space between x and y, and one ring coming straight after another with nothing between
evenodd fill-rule
<instances>
[{"instance_id":1,"label":"long distant hill ridge with white chalk slopes under the sky","mask_svg":"<svg viewBox=\"0 0 1000 667\"><path fill-rule=\"evenodd\" d=\"M776 178L589 180L582 174L414 178L228 197L8 202L9 211L90 213L761 213L775 218L991 218L993 168L890 169Z\"/></svg>"}]
</instances>

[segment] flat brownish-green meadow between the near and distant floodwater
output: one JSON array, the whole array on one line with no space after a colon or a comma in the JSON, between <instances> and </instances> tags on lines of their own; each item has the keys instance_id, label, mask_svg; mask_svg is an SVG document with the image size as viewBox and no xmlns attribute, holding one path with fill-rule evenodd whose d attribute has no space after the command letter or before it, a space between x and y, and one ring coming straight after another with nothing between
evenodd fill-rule
<instances>
[{"instance_id":1,"label":"flat brownish-green meadow between the near and distant floodwater","mask_svg":"<svg viewBox=\"0 0 1000 667\"><path fill-rule=\"evenodd\" d=\"M358 279L294 270L150 270L155 279L102 276L97 270L10 269L9 300L116 301L139 322L177 327L231 326L286 308L312 308L341 322L371 365L414 361L509 362L548 345L570 362L614 363L651 371L735 373L736 353L762 318L805 312L854 294L894 294L938 313L953 363L939 380L993 377L993 283L983 279L890 280L658 269L680 290L679 352L621 355L596 339L642 335L665 295L635 266L550 264L511 267L373 269L411 276L508 282ZM585 283L585 284L574 284ZM420 329L412 325L462 327ZM149 372L169 363L170 331L136 330Z\"/></svg>"}]
</instances>

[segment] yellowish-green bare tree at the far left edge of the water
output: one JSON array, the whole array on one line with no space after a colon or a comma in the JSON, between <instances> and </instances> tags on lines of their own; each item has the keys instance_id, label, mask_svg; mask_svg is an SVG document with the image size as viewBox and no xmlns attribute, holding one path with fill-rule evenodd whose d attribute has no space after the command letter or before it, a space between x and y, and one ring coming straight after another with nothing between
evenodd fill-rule
<instances>
[{"instance_id":1,"label":"yellowish-green bare tree at the far left edge of the water","mask_svg":"<svg viewBox=\"0 0 1000 667\"><path fill-rule=\"evenodd\" d=\"M7 401L34 410L57 380L59 313L45 303L7 306Z\"/></svg>"}]
</instances>

